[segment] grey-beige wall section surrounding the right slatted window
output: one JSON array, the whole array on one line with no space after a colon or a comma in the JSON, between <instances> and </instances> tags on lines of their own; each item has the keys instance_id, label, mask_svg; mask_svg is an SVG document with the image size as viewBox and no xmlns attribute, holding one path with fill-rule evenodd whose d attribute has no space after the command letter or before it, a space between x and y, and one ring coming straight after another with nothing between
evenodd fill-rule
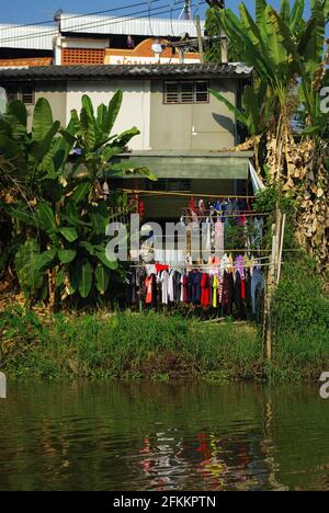
<instances>
[{"instance_id":1,"label":"grey-beige wall section surrounding the right slatted window","mask_svg":"<svg viewBox=\"0 0 329 513\"><path fill-rule=\"evenodd\" d=\"M237 80L211 80L211 88L236 102ZM163 103L162 81L152 81L151 93L152 149L207 150L229 148L236 144L234 116L214 96L211 95L209 103L167 105Z\"/></svg>"}]
</instances>

